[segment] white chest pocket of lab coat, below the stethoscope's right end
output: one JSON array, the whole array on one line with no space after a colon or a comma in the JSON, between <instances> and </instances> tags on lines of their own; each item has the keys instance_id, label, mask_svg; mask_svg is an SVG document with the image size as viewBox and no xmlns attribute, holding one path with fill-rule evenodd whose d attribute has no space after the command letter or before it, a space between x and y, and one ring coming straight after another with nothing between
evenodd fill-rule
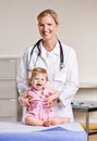
<instances>
[{"instance_id":1,"label":"white chest pocket of lab coat, below the stethoscope's right end","mask_svg":"<svg viewBox=\"0 0 97 141\"><path fill-rule=\"evenodd\" d=\"M56 73L54 74L54 80L65 84L65 81L66 81L65 73L60 73L60 72Z\"/></svg>"}]
</instances>

